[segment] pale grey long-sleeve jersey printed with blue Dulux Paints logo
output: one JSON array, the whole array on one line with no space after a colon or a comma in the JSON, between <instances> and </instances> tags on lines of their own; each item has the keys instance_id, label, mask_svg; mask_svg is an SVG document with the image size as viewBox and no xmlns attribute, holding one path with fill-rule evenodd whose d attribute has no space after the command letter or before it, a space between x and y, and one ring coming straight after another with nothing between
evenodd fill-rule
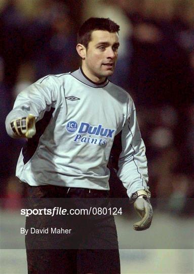
<instances>
[{"instance_id":1,"label":"pale grey long-sleeve jersey printed with blue Dulux Paints logo","mask_svg":"<svg viewBox=\"0 0 194 274\"><path fill-rule=\"evenodd\" d=\"M122 132L118 176L128 196L147 187L147 160L132 98L108 79L90 81L81 69L49 75L22 91L6 119L33 114L36 134L21 150L16 176L31 186L108 190L107 162Z\"/></svg>"}]
</instances>

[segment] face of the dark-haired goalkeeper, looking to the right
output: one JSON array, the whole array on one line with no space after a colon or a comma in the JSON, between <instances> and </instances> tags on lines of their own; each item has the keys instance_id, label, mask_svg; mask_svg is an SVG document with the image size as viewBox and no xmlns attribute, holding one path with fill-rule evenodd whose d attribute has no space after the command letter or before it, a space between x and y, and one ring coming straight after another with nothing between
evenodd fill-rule
<instances>
[{"instance_id":1,"label":"face of the dark-haired goalkeeper, looking to the right","mask_svg":"<svg viewBox=\"0 0 194 274\"><path fill-rule=\"evenodd\" d=\"M118 57L119 36L117 32L94 30L91 38L83 65L87 76L97 82L111 76L114 72Z\"/></svg>"}]
</instances>

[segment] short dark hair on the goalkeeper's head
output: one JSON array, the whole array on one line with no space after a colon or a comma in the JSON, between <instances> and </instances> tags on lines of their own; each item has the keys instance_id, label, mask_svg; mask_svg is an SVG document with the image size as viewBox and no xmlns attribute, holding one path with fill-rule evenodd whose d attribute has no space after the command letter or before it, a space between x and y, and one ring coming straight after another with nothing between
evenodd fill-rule
<instances>
[{"instance_id":1,"label":"short dark hair on the goalkeeper's head","mask_svg":"<svg viewBox=\"0 0 194 274\"><path fill-rule=\"evenodd\" d=\"M77 33L77 43L88 48L88 44L92 39L91 34L93 30L107 30L109 32L119 33L120 26L109 18L91 17L80 27Z\"/></svg>"}]
</instances>

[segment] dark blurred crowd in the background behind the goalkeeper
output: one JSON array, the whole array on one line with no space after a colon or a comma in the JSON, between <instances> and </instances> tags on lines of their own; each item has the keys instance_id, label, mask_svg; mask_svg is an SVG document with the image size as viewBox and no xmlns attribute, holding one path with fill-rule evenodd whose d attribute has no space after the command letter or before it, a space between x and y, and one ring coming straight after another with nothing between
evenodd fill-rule
<instances>
[{"instance_id":1,"label":"dark blurred crowd in the background behind the goalkeeper","mask_svg":"<svg viewBox=\"0 0 194 274\"><path fill-rule=\"evenodd\" d=\"M1 121L26 86L79 67L76 31L85 19L120 24L111 81L135 101L152 196L164 198L167 210L191 214L185 201L194 197L194 1L2 0L0 9ZM20 197L14 174L25 141L9 138L4 122L0 132L1 196Z\"/></svg>"}]
</instances>

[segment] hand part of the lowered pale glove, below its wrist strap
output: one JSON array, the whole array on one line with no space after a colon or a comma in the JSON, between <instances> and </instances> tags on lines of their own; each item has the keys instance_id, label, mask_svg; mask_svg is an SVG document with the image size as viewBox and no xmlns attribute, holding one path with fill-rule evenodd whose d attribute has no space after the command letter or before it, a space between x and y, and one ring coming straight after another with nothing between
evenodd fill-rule
<instances>
[{"instance_id":1,"label":"hand part of the lowered pale glove, below its wrist strap","mask_svg":"<svg viewBox=\"0 0 194 274\"><path fill-rule=\"evenodd\" d=\"M136 222L133 227L135 230L145 230L150 227L153 216L153 210L148 198L144 199L143 196L137 197L134 202L134 208L138 215L142 218L141 221Z\"/></svg>"}]
</instances>

